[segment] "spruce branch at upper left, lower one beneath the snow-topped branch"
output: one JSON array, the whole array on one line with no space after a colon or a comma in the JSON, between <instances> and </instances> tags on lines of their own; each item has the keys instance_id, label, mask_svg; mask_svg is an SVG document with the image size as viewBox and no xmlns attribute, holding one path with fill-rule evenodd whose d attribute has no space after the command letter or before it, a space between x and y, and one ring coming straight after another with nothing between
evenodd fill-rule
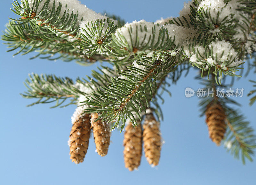
<instances>
[{"instance_id":1,"label":"spruce branch at upper left, lower one beneath the snow-topped branch","mask_svg":"<svg viewBox=\"0 0 256 185\"><path fill-rule=\"evenodd\" d=\"M36 58L40 55L49 56L42 57L49 60L62 59L64 61L77 60L81 63L84 62L95 62L102 57L97 56L94 59L86 57L82 50L77 48L75 42L69 42L65 39L56 39L54 34L45 35L49 32L41 30L37 33L32 33L32 27L30 23L23 24L21 26L15 26L14 21L9 22L5 34L2 36L2 40L6 41L10 51L17 48L21 48L16 54L22 53L21 55L30 53L32 51L38 52L38 54L33 57ZM59 54L58 58L52 59L53 55Z\"/></svg>"}]
</instances>

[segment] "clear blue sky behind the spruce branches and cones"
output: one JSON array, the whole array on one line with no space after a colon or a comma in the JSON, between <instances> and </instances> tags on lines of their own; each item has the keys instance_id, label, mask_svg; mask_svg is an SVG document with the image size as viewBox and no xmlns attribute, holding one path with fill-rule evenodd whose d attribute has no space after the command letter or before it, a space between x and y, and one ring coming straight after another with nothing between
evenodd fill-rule
<instances>
[{"instance_id":1,"label":"clear blue sky behind the spruce branches and cones","mask_svg":"<svg viewBox=\"0 0 256 185\"><path fill-rule=\"evenodd\" d=\"M8 17L16 16L10 11L12 1L1 1L0 27ZM91 1L82 0L87 7L107 11L121 16L127 22L145 19L156 21L161 17L177 16L183 2L177 1ZM48 60L28 60L34 53L25 56L6 53L6 46L0 44L0 184L189 184L189 185L233 185L255 184L256 163L243 165L217 147L209 139L204 117L199 117L198 98L186 98L186 87L203 88L194 80L196 70L182 77L177 85L171 85L172 97L164 94L162 105L164 121L161 122L162 147L160 163L152 168L144 156L138 171L124 168L123 133L112 132L108 155L100 157L95 153L93 138L82 164L76 165L69 159L68 135L76 106L49 109L49 104L26 107L31 99L22 98L19 93L26 90L23 85L28 73L46 73L57 76L90 75L98 64L83 67L75 62L65 63ZM241 110L255 126L255 106L248 105L245 96L251 89L249 79L235 82L234 88L244 88L244 96L236 98L242 104Z\"/></svg>"}]
</instances>

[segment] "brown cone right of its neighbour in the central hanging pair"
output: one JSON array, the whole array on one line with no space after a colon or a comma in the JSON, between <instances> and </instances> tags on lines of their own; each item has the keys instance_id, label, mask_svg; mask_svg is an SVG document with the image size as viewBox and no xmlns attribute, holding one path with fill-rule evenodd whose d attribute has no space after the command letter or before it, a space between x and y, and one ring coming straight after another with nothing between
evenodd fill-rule
<instances>
[{"instance_id":1,"label":"brown cone right of its neighbour in the central hanging pair","mask_svg":"<svg viewBox=\"0 0 256 185\"><path fill-rule=\"evenodd\" d=\"M159 126L160 123L156 121L152 113L146 115L143 124L144 152L148 163L152 166L158 165L160 159L162 143Z\"/></svg>"}]
</instances>

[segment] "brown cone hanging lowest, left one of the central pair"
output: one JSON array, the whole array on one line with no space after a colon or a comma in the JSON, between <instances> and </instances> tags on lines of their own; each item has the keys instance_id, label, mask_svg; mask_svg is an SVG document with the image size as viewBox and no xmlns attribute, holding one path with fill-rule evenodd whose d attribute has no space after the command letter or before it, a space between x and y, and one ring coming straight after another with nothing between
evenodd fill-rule
<instances>
[{"instance_id":1,"label":"brown cone hanging lowest, left one of the central pair","mask_svg":"<svg viewBox=\"0 0 256 185\"><path fill-rule=\"evenodd\" d=\"M142 130L138 124L135 128L129 122L124 132L124 164L130 171L140 166L142 151Z\"/></svg>"}]
</instances>

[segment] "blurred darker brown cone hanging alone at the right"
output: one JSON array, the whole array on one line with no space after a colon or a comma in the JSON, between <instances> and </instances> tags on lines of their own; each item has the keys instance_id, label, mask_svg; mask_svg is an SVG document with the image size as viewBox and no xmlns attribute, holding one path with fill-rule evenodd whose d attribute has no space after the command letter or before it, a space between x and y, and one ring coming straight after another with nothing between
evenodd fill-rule
<instances>
[{"instance_id":1,"label":"blurred darker brown cone hanging alone at the right","mask_svg":"<svg viewBox=\"0 0 256 185\"><path fill-rule=\"evenodd\" d=\"M206 109L206 123L209 130L209 136L217 146L220 146L221 140L226 132L226 114L220 103L212 103Z\"/></svg>"}]
</instances>

